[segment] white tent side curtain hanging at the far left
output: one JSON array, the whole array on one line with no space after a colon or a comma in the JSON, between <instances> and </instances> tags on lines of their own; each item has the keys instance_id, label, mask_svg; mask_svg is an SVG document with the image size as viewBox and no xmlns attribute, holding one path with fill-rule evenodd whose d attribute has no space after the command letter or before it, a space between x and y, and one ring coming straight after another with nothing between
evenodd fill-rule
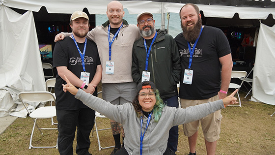
<instances>
[{"instance_id":1,"label":"white tent side curtain hanging at the far left","mask_svg":"<svg viewBox=\"0 0 275 155\"><path fill-rule=\"evenodd\" d=\"M46 91L33 14L0 5L0 117L23 91Z\"/></svg>"}]
</instances>

